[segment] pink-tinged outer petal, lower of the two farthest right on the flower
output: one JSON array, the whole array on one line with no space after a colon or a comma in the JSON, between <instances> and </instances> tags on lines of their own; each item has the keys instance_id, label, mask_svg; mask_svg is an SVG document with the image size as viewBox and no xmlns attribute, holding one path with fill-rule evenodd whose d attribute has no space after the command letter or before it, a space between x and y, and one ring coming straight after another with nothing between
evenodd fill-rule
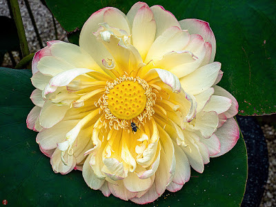
<instances>
[{"instance_id":1,"label":"pink-tinged outer petal, lower of the two farthest right on the flower","mask_svg":"<svg viewBox=\"0 0 276 207\"><path fill-rule=\"evenodd\" d=\"M221 128L217 129L215 135L219 139L221 146L220 152L213 157L219 157L230 151L239 139L239 127L237 126L235 119L227 119L226 123L221 126Z\"/></svg>"}]
</instances>

